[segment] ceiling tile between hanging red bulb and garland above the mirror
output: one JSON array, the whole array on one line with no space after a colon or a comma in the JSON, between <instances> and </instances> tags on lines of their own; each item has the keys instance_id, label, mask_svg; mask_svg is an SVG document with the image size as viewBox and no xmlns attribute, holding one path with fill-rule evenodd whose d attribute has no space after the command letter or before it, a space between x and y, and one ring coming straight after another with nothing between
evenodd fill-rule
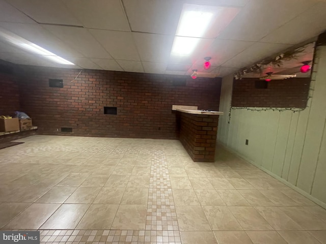
<instances>
[{"instance_id":1,"label":"ceiling tile between hanging red bulb and garland above the mirror","mask_svg":"<svg viewBox=\"0 0 326 244\"><path fill-rule=\"evenodd\" d=\"M229 59L223 64L223 66L230 68L243 68L251 66L266 57L273 56L274 54L284 51L290 46L291 45L287 44L257 42L243 52L240 52L238 55Z\"/></svg>"}]
</instances>

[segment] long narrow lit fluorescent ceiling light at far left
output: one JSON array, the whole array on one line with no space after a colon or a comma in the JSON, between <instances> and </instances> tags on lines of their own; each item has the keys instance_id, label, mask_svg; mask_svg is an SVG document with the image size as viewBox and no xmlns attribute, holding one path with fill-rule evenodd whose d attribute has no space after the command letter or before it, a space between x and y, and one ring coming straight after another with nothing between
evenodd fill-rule
<instances>
[{"instance_id":1,"label":"long narrow lit fluorescent ceiling light at far left","mask_svg":"<svg viewBox=\"0 0 326 244\"><path fill-rule=\"evenodd\" d=\"M28 40L25 40L19 36L17 36L16 34L13 34L11 32L8 32L6 29L1 28L0 27L0 39L4 39L7 42L10 42L20 48L23 48L27 51L36 53L38 55L41 55L43 57L46 57L58 64L62 64L62 65L74 65L73 63L71 63L70 61L58 56L55 53L52 53L46 49L44 49L43 47L40 47Z\"/></svg>"}]
</instances>

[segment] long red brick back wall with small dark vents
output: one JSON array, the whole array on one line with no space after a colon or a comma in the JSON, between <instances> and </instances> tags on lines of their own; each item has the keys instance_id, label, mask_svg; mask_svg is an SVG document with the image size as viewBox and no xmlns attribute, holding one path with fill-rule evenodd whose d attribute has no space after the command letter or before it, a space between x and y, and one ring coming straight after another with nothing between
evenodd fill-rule
<instances>
[{"instance_id":1,"label":"long red brick back wall with small dark vents","mask_svg":"<svg viewBox=\"0 0 326 244\"><path fill-rule=\"evenodd\" d=\"M39 134L131 138L177 138L172 105L195 105L218 110L220 79L85 70L22 67L22 110L33 118ZM64 88L49 87L48 79L63 79ZM118 107L117 115L103 114L103 107ZM60 128L72 128L62 133ZM59 131L57 131L59 129Z\"/></svg>"}]
</instances>

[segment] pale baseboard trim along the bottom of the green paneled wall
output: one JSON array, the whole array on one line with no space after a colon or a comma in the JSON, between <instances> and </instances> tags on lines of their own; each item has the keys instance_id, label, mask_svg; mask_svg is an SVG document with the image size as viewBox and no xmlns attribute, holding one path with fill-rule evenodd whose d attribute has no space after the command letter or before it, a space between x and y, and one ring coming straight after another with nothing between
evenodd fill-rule
<instances>
[{"instance_id":1,"label":"pale baseboard trim along the bottom of the green paneled wall","mask_svg":"<svg viewBox=\"0 0 326 244\"><path fill-rule=\"evenodd\" d=\"M269 174L270 176L273 176L274 178L280 180L282 183L284 183L286 186L292 188L293 190L297 191L298 193L300 193L301 195L304 195L305 197L307 197L309 200L313 201L314 203L318 204L319 206L323 207L326 209L326 203L320 201L319 199L311 196L310 194L308 194L307 192L305 192L304 190L292 185L290 182L286 181L285 179L281 178L280 176L274 174L273 172L270 172L269 170L261 167L260 165L256 164L254 161L252 161L251 159L248 159L246 156L241 155L238 151L230 148L228 145L224 144L221 141L217 141L218 145L224 147L226 150L230 151L231 153L235 154L236 156L238 156L239 158L246 160L248 163L251 163L252 165L256 166L257 168L261 169L262 171L266 172L267 174Z\"/></svg>"}]
</instances>

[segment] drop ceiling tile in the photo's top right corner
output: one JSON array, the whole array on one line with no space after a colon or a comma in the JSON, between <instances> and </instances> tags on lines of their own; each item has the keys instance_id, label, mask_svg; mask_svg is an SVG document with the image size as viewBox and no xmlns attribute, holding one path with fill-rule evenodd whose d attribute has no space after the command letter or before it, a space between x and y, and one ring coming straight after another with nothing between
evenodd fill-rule
<instances>
[{"instance_id":1,"label":"drop ceiling tile in the photo's top right corner","mask_svg":"<svg viewBox=\"0 0 326 244\"><path fill-rule=\"evenodd\" d=\"M318 3L261 39L262 42L297 44L325 31L326 3Z\"/></svg>"}]
</instances>

